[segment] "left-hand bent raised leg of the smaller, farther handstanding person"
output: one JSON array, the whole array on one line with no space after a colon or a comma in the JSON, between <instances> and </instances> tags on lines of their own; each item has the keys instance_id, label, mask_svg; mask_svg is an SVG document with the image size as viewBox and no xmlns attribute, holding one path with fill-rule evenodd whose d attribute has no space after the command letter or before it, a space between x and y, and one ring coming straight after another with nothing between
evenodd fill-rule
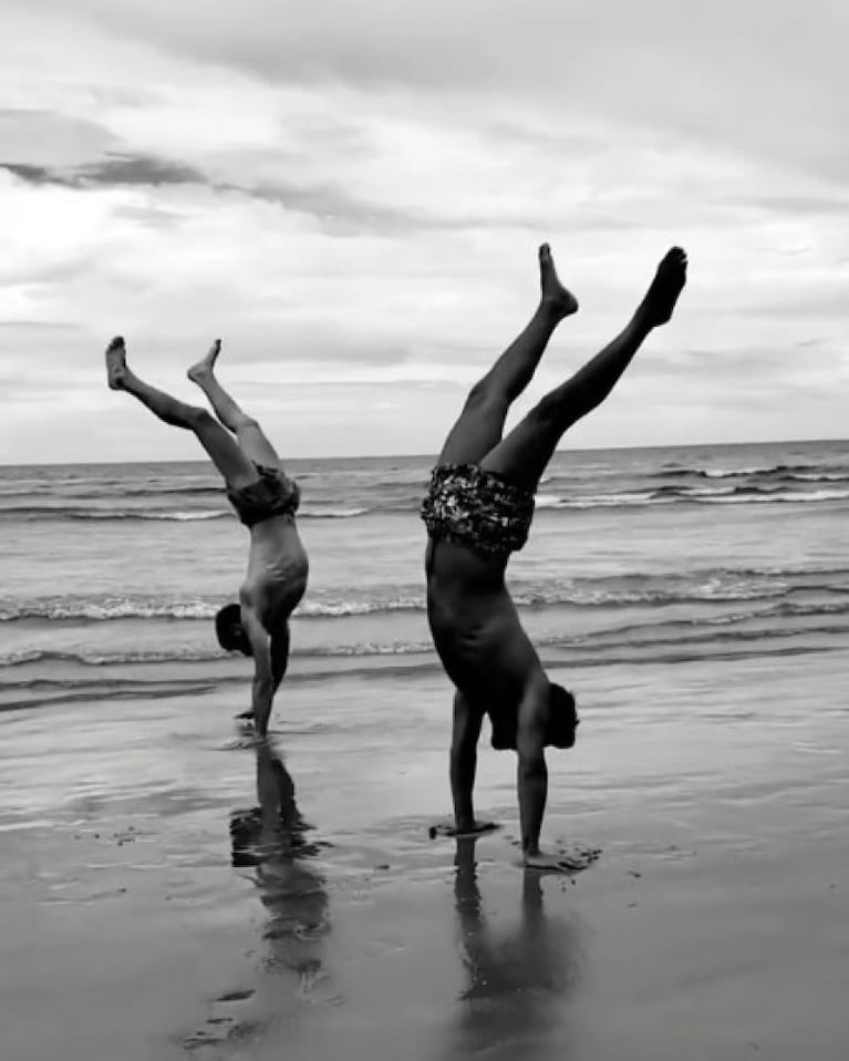
<instances>
[{"instance_id":1,"label":"left-hand bent raised leg of the smaller, farther handstanding person","mask_svg":"<svg viewBox=\"0 0 849 1061\"><path fill-rule=\"evenodd\" d=\"M137 398L166 424L194 431L228 486L240 490L257 481L253 464L205 409L187 405L138 379L127 367L126 348L121 336L116 336L106 349L106 379L113 391L126 391Z\"/></svg>"}]
</instances>

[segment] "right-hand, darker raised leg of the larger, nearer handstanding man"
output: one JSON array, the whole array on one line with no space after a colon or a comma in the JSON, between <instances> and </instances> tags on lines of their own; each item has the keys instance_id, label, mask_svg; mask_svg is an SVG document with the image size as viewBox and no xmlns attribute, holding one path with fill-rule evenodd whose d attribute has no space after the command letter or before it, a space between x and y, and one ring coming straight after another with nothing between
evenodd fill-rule
<instances>
[{"instance_id":1,"label":"right-hand, darker raised leg of the larger, nearer handstanding man","mask_svg":"<svg viewBox=\"0 0 849 1061\"><path fill-rule=\"evenodd\" d=\"M672 317L686 282L686 255L673 247L631 322L570 380L547 394L482 462L517 485L536 490L563 433L613 390L652 329Z\"/></svg>"}]
</instances>

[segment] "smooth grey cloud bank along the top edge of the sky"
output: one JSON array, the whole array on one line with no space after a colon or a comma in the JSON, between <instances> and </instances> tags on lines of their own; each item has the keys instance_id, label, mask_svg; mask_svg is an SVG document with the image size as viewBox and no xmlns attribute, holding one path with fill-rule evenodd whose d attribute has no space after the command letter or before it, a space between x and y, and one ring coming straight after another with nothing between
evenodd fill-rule
<instances>
[{"instance_id":1,"label":"smooth grey cloud bank along the top edge of the sky","mask_svg":"<svg viewBox=\"0 0 849 1061\"><path fill-rule=\"evenodd\" d=\"M38 0L55 11L51 0ZM842 41L832 0L364 0L303 8L279 0L77 0L74 10L170 54L276 84L408 90L447 111L457 94L535 110L674 130L846 173L831 135L846 116ZM447 99L446 99L447 97Z\"/></svg>"}]
</instances>

